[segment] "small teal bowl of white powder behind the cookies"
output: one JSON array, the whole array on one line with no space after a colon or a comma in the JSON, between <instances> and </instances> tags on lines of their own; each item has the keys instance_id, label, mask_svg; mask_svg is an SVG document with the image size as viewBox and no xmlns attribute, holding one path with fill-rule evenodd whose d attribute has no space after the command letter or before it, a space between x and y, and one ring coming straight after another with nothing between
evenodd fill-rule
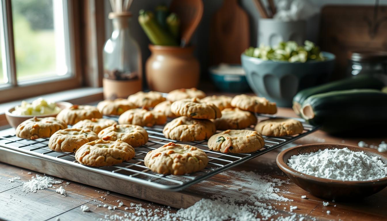
<instances>
[{"instance_id":1,"label":"small teal bowl of white powder behind the cookies","mask_svg":"<svg viewBox=\"0 0 387 221\"><path fill-rule=\"evenodd\" d=\"M240 65L231 65L239 66ZM218 74L214 72L217 66L212 66L209 68L209 73L212 82L217 89L224 92L231 93L243 93L250 91L250 86L248 86L246 75L241 74Z\"/></svg>"}]
</instances>

